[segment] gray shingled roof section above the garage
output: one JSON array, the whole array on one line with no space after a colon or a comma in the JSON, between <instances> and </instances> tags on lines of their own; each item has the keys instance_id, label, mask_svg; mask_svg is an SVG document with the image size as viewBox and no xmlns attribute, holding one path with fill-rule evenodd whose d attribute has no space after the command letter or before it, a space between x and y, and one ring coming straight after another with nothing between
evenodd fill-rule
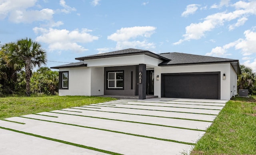
<instances>
[{"instance_id":1,"label":"gray shingled roof section above the garage","mask_svg":"<svg viewBox=\"0 0 256 155\"><path fill-rule=\"evenodd\" d=\"M170 61L163 61L158 64L158 66L182 66L182 65L192 65L192 64L217 64L217 63L230 63L236 74L241 74L239 60L218 58L212 56L200 56L194 54L184 54L184 53L163 53L159 54L165 58L170 59Z\"/></svg>"}]
</instances>

